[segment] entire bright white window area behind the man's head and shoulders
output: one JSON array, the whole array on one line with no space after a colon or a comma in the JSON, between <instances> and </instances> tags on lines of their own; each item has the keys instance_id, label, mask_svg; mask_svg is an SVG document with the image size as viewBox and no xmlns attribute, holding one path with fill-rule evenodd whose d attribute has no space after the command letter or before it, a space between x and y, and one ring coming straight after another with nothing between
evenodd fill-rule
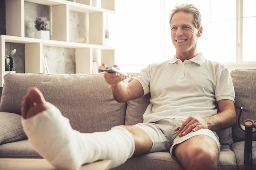
<instances>
[{"instance_id":1,"label":"entire bright white window area behind the man's head and shoulders","mask_svg":"<svg viewBox=\"0 0 256 170\"><path fill-rule=\"evenodd\" d=\"M109 16L110 45L125 72L139 72L150 63L171 59L169 14L177 4L191 3L202 14L198 52L235 68L256 68L255 0L124 0Z\"/></svg>"}]
</instances>

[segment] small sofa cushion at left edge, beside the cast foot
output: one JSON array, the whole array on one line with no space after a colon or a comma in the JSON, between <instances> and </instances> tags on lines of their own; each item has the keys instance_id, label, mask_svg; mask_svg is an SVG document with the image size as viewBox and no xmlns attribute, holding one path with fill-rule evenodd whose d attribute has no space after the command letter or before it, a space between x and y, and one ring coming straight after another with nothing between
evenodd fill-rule
<instances>
[{"instance_id":1,"label":"small sofa cushion at left edge, beside the cast foot","mask_svg":"<svg viewBox=\"0 0 256 170\"><path fill-rule=\"evenodd\" d=\"M20 115L0 112L0 144L24 139L27 139L27 136L22 128Z\"/></svg>"}]
</instances>

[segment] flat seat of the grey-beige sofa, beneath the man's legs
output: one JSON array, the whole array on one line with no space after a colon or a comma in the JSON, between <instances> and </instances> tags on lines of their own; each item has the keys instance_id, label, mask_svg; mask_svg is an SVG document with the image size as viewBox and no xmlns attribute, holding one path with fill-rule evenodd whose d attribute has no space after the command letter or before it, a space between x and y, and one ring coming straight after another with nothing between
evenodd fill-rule
<instances>
[{"instance_id":1,"label":"flat seat of the grey-beige sofa, beneath the man's legs","mask_svg":"<svg viewBox=\"0 0 256 170\"><path fill-rule=\"evenodd\" d=\"M0 152L0 158L42 158L32 148L28 140L2 144L0 145ZM133 156L113 170L155 170L155 167L159 167L160 170L183 170L180 164L167 152ZM241 167L243 168L243 163ZM221 145L218 170L237 170L236 156L229 145Z\"/></svg>"}]
</instances>

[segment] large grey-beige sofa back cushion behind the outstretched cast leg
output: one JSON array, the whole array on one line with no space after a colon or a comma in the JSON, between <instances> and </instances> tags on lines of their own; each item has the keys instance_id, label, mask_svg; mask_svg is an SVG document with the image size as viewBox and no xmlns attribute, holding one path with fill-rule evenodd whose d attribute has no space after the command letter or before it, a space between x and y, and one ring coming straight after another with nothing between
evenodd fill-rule
<instances>
[{"instance_id":1,"label":"large grey-beige sofa back cushion behind the outstretched cast leg","mask_svg":"<svg viewBox=\"0 0 256 170\"><path fill-rule=\"evenodd\" d=\"M0 111L20 114L30 87L37 87L77 131L107 131L124 124L126 103L115 101L103 74L9 73L4 76Z\"/></svg>"}]
</instances>

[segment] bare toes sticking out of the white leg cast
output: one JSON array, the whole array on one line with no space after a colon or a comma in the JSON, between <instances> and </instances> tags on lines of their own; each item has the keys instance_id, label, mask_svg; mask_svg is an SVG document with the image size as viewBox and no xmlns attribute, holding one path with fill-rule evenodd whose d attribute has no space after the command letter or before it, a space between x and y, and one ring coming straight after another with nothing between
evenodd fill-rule
<instances>
[{"instance_id":1,"label":"bare toes sticking out of the white leg cast","mask_svg":"<svg viewBox=\"0 0 256 170\"><path fill-rule=\"evenodd\" d=\"M22 101L21 115L24 119L31 118L36 114L45 111L45 98L43 94L36 88L29 89Z\"/></svg>"}]
</instances>

